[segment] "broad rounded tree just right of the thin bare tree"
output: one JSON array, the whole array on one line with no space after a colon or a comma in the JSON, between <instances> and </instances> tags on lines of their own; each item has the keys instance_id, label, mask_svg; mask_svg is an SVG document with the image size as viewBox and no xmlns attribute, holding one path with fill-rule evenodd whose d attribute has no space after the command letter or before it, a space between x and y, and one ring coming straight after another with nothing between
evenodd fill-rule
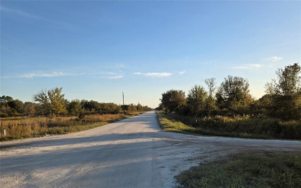
<instances>
[{"instance_id":1,"label":"broad rounded tree just right of the thin bare tree","mask_svg":"<svg viewBox=\"0 0 301 188\"><path fill-rule=\"evenodd\" d=\"M221 83L216 94L217 102L222 108L231 108L237 103L246 104L252 99L247 79L228 75Z\"/></svg>"}]
</instances>

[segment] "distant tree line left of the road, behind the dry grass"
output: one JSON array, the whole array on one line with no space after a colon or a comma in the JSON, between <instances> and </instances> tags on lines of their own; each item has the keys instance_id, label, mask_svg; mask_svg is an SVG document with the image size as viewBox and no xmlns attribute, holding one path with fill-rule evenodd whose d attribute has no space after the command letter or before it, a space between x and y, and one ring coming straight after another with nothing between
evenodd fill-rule
<instances>
[{"instance_id":1,"label":"distant tree line left of the road, behind the dry grass","mask_svg":"<svg viewBox=\"0 0 301 188\"><path fill-rule=\"evenodd\" d=\"M88 114L117 114L130 113L135 111L149 111L152 108L141 104L119 105L115 103L103 103L95 100L71 101L64 98L63 88L52 88L41 90L32 96L33 102L22 102L10 96L0 97L1 117L8 116L78 116Z\"/></svg>"}]
</instances>

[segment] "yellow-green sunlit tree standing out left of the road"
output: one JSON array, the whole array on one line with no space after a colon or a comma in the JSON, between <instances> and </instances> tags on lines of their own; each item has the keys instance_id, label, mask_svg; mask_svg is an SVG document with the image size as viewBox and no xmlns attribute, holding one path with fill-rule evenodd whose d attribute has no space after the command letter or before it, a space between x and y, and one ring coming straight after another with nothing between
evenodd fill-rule
<instances>
[{"instance_id":1,"label":"yellow-green sunlit tree standing out left of the road","mask_svg":"<svg viewBox=\"0 0 301 188\"><path fill-rule=\"evenodd\" d=\"M42 114L54 117L66 110L64 104L65 94L61 94L63 88L52 88L50 90L41 90L33 95L33 101L39 102Z\"/></svg>"}]
</instances>

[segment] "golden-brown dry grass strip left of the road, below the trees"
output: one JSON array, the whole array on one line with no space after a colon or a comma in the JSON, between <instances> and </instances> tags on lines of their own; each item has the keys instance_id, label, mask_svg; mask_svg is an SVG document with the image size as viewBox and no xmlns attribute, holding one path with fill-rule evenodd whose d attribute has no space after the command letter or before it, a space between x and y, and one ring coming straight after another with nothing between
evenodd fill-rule
<instances>
[{"instance_id":1,"label":"golden-brown dry grass strip left of the road, below the trees","mask_svg":"<svg viewBox=\"0 0 301 188\"><path fill-rule=\"evenodd\" d=\"M133 112L128 115L124 114L93 114L87 115L82 119L73 117L56 117L49 119L47 117L9 117L1 118L2 123L0 131L6 130L6 136L1 134L0 141L13 139L23 139L43 135L67 134L70 132L79 132L104 126L122 119L126 119L141 112Z\"/></svg>"}]
</instances>

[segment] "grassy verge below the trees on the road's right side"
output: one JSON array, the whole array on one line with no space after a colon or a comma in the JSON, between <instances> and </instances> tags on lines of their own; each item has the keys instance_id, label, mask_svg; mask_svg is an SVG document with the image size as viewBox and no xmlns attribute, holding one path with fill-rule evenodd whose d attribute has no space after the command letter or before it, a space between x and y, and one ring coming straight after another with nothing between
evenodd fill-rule
<instances>
[{"instance_id":1,"label":"grassy verge below the trees on the road's right side","mask_svg":"<svg viewBox=\"0 0 301 188\"><path fill-rule=\"evenodd\" d=\"M258 139L301 139L301 122L250 116L187 117L157 111L161 128L166 131Z\"/></svg>"}]
</instances>

